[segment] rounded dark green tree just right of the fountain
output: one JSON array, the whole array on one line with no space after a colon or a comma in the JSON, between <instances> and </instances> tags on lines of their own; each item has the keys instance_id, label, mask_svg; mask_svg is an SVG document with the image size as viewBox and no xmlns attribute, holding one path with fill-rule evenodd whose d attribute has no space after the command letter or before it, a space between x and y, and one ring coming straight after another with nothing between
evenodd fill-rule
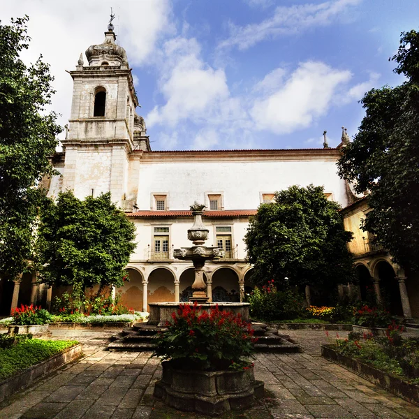
<instances>
[{"instance_id":1,"label":"rounded dark green tree just right of the fountain","mask_svg":"<svg viewBox=\"0 0 419 419\"><path fill-rule=\"evenodd\" d=\"M346 244L352 233L344 230L339 208L325 198L323 186L313 185L291 186L260 205L244 237L253 281L330 288L351 281Z\"/></svg>"}]
</instances>

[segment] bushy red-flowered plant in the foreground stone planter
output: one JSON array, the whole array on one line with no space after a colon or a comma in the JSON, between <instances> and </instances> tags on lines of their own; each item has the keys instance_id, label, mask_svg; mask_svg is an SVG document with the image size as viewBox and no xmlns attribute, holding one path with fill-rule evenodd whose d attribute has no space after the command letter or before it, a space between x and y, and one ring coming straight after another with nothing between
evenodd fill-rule
<instances>
[{"instance_id":1,"label":"bushy red-flowered plant in the foreground stone planter","mask_svg":"<svg viewBox=\"0 0 419 419\"><path fill-rule=\"evenodd\" d=\"M240 314L219 310L210 314L195 303L180 304L168 330L159 332L154 356L170 360L172 367L216 371L249 368L253 330Z\"/></svg>"}]
</instances>

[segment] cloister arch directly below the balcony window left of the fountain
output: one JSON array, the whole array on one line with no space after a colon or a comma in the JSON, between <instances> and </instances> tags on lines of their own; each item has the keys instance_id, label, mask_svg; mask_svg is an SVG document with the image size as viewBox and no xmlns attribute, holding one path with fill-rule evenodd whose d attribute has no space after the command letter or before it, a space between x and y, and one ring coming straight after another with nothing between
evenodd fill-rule
<instances>
[{"instance_id":1,"label":"cloister arch directly below the balcony window left of the fountain","mask_svg":"<svg viewBox=\"0 0 419 419\"><path fill-rule=\"evenodd\" d=\"M148 276L148 302L175 301L175 272L166 266L155 267Z\"/></svg>"}]
</instances>

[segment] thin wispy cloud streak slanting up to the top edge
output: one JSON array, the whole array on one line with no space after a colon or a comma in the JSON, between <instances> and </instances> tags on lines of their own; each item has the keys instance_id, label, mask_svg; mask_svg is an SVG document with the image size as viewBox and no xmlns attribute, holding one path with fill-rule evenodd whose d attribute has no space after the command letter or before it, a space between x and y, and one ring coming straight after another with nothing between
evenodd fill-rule
<instances>
[{"instance_id":1,"label":"thin wispy cloud streak slanting up to the top edge","mask_svg":"<svg viewBox=\"0 0 419 419\"><path fill-rule=\"evenodd\" d=\"M219 47L237 46L240 50L277 36L288 36L311 27L326 26L344 16L351 6L362 0L332 0L324 3L305 3L298 6L278 6L272 15L259 23L237 26L230 24L230 37ZM263 1L256 1L264 3Z\"/></svg>"}]
</instances>

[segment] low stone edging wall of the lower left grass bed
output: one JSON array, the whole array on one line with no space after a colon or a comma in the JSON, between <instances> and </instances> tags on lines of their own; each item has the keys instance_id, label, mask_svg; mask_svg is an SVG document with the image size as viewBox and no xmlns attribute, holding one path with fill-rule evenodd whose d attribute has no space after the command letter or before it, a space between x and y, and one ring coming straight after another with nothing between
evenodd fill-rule
<instances>
[{"instance_id":1,"label":"low stone edging wall of the lower left grass bed","mask_svg":"<svg viewBox=\"0 0 419 419\"><path fill-rule=\"evenodd\" d=\"M50 372L62 367L64 364L75 360L82 355L82 345L78 344L66 348L61 353L48 358L47 360L33 365L14 376L0 381L0 402L6 397L13 395L14 392L29 387L36 379L49 374Z\"/></svg>"}]
</instances>

